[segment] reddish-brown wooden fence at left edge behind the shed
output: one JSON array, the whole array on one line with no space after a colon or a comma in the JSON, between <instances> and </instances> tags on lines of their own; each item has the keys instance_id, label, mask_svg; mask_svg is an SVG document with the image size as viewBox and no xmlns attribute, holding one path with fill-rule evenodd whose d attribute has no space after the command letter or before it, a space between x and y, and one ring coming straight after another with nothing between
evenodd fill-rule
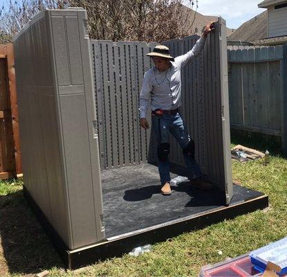
<instances>
[{"instance_id":1,"label":"reddish-brown wooden fence at left edge behind the shed","mask_svg":"<svg viewBox=\"0 0 287 277\"><path fill-rule=\"evenodd\" d=\"M22 172L12 44L0 45L0 179Z\"/></svg>"}]
</instances>

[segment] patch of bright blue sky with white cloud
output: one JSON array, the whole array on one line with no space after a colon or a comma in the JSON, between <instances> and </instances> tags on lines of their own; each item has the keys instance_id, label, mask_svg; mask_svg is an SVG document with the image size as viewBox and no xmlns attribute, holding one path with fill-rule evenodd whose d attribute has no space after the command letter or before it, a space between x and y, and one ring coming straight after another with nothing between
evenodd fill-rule
<instances>
[{"instance_id":1,"label":"patch of bright blue sky with white cloud","mask_svg":"<svg viewBox=\"0 0 287 277\"><path fill-rule=\"evenodd\" d=\"M189 0L187 6L189 6ZM226 20L228 28L238 28L244 22L263 12L257 5L263 0L198 0L198 12L202 15L221 16ZM194 0L194 3L196 0ZM195 7L194 7L195 8Z\"/></svg>"}]
</instances>

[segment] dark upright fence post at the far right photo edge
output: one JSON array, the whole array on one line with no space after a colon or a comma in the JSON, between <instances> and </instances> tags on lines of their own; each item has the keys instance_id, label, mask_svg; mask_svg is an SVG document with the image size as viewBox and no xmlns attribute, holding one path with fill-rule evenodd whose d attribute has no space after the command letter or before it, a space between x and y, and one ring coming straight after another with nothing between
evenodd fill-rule
<instances>
[{"instance_id":1,"label":"dark upright fence post at the far right photo edge","mask_svg":"<svg viewBox=\"0 0 287 277\"><path fill-rule=\"evenodd\" d=\"M283 45L281 80L281 141L283 153L287 156L287 44Z\"/></svg>"}]
</instances>

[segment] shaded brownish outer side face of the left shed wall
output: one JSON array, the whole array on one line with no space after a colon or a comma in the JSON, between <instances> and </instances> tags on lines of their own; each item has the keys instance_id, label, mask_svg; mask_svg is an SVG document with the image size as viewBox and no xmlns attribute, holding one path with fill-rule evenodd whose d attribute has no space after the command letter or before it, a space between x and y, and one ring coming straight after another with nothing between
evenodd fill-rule
<instances>
[{"instance_id":1,"label":"shaded brownish outer side face of the left shed wall","mask_svg":"<svg viewBox=\"0 0 287 277\"><path fill-rule=\"evenodd\" d=\"M47 12L15 39L24 186L69 245Z\"/></svg>"}]
</instances>

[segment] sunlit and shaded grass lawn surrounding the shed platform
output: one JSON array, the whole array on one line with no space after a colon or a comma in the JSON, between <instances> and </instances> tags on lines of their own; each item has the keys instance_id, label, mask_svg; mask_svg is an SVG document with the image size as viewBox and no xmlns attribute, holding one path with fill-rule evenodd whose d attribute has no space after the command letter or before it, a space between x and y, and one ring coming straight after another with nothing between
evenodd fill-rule
<instances>
[{"instance_id":1,"label":"sunlit and shaded grass lawn surrounding the shed platform","mask_svg":"<svg viewBox=\"0 0 287 277\"><path fill-rule=\"evenodd\" d=\"M78 271L64 271L22 195L22 181L0 183L0 276L198 276L203 265L234 258L287 235L287 159L277 140L233 134L233 144L270 151L270 164L232 161L233 179L269 195L269 208L241 215L205 229L183 233L154 244L151 253L98 262ZM219 252L219 251L222 251Z\"/></svg>"}]
</instances>

